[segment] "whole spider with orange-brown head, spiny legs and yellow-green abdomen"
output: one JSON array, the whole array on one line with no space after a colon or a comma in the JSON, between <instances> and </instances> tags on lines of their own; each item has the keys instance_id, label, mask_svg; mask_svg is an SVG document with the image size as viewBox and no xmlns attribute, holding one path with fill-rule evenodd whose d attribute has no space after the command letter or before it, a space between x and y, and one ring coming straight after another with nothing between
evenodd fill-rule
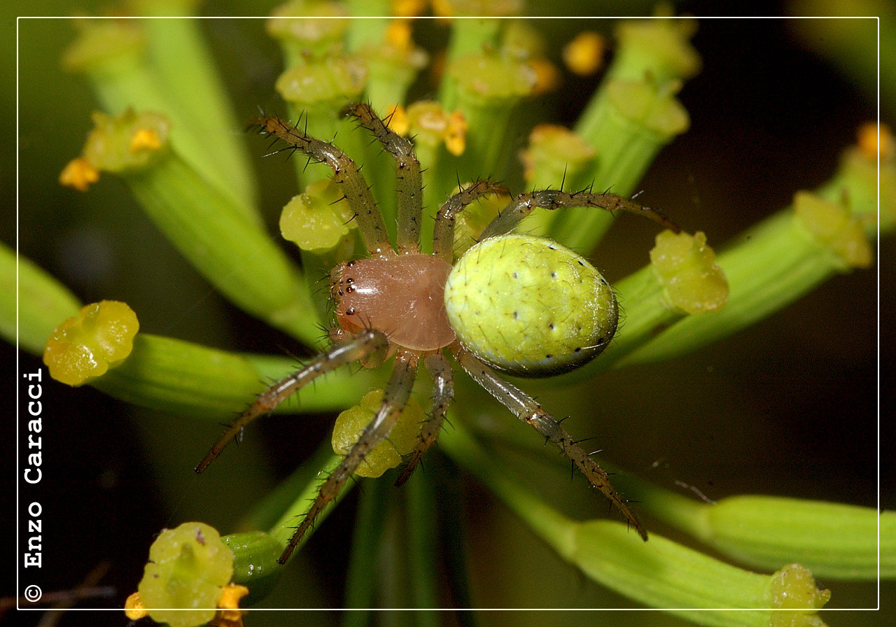
<instances>
[{"instance_id":1,"label":"whole spider with orange-brown head, spiny legs and yellow-green abdomen","mask_svg":"<svg viewBox=\"0 0 896 627\"><path fill-rule=\"evenodd\" d=\"M332 167L333 180L354 211L370 256L342 262L330 273L330 296L336 326L332 347L307 365L275 382L243 412L196 467L201 473L224 447L255 418L267 414L308 383L342 365L382 365L394 356L392 375L375 416L340 465L323 480L317 495L278 560L285 563L314 520L349 480L377 443L388 437L407 403L420 362L432 376L429 416L396 481L403 484L433 445L453 396L452 365L445 352L470 377L535 427L582 471L647 539L647 531L610 484L607 473L566 433L555 417L495 370L516 376L549 376L573 370L597 356L616 332L616 297L600 273L573 251L551 240L511 234L531 210L541 207L595 207L627 210L677 228L659 212L612 193L566 193L539 190L521 193L487 226L477 245L455 262L454 219L470 202L501 185L478 180L461 187L435 216L433 253L419 248L422 215L420 164L408 139L394 133L364 103L347 107L395 159L398 176L398 232L394 248L383 215L364 176L352 159L331 142L309 136L280 117L252 123L262 134L286 142L282 150L299 150ZM505 305L508 292L518 297Z\"/></svg>"}]
</instances>

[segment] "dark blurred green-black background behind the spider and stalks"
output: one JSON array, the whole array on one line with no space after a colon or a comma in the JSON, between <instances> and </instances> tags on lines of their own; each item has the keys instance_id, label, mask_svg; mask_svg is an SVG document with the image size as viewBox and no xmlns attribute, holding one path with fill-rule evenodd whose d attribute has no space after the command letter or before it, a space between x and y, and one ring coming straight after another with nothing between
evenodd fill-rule
<instances>
[{"instance_id":1,"label":"dark blurred green-black background behind the spider and stalks","mask_svg":"<svg viewBox=\"0 0 896 627\"><path fill-rule=\"evenodd\" d=\"M224 2L215 4L213 11L265 14L273 5ZM533 2L527 10L565 15L637 13L630 4L625 9L620 5ZM648 4L639 6L650 10ZM704 8L701 3L675 6L676 11L698 15ZM850 10L853 6L849 4ZM29 3L27 11L102 14L108 7L99 2L47 1ZM884 10L874 3L863 4L864 8L869 14ZM757 12L763 9L769 15L813 13L808 4L754 4ZM212 8L201 5L203 10ZM12 86L15 38L10 22L5 23L8 36L2 45L13 63L4 63L2 72L4 84ZM72 22L18 24L20 33L28 34L18 42L18 220L13 210L15 153L6 150L0 156L0 185L9 208L4 214L8 219L0 223L4 243L14 245L18 236L22 254L53 273L85 303L124 300L139 314L142 331L219 348L302 354L294 340L221 299L155 231L114 176L104 176L86 194L56 183L60 170L80 154L96 104L82 77L60 69L62 51L74 37ZM272 86L281 70L280 53L264 34L263 21L208 20L201 27L237 117L249 119L258 107L277 111L281 105ZM423 28L430 29L433 44L447 36L435 24ZM556 42L553 60L559 64L563 43L580 30L610 32L612 22L540 21L538 28L550 44ZM875 28L874 22L867 23L863 37L874 38ZM680 94L691 115L691 130L659 154L642 180L650 205L666 210L686 230L704 231L718 249L788 205L798 189L813 189L826 181L837 167L840 151L855 142L857 126L876 117L874 77L869 82L861 64L840 64L837 59L846 56L825 52L837 43L835 34L833 24L816 21L700 21L693 43L702 55L703 69ZM419 38L418 44L429 45ZM572 125L599 78L565 74L564 79L556 98L544 102L539 117ZM421 80L411 97L426 97L431 89ZM893 119L892 96L884 86L884 121ZM3 90L0 98L7 110L0 124L6 127L4 136L12 138L16 91ZM262 154L264 146L251 137L246 142L251 142L253 155ZM294 176L279 159L256 159L255 166L262 207L271 233L276 234L280 207L295 193ZM612 283L648 261L654 235L638 220L621 220L592 261ZM664 364L601 374L573 393L542 385L538 398L557 416L572 416L567 425L574 434L596 436L607 459L670 489L694 486L712 500L729 494L782 494L874 507L880 487L881 506L892 508L896 492L892 462L887 461L893 459L892 425L882 425L880 440L877 425L878 366L883 389L892 383L891 334L880 338L880 361L877 352L879 320L884 330L892 321L893 295L886 289L886 278L893 271L891 245L892 241L882 243L877 267L871 271L832 279L779 314L709 348ZM880 295L878 272L884 278ZM14 348L5 346L4 398L13 405ZM35 356L19 353L18 358L22 372L40 365ZM194 476L192 467L172 468L168 463L166 451L172 448L178 449L178 459L186 455L198 460L217 436L216 425L159 416L89 387L50 384L45 391L41 486L46 490L45 590L77 587L106 564L103 581L115 585L118 593L97 604L121 606L140 580L146 549L160 528L204 520L228 533L259 496L242 494L238 485L230 493L214 492ZM274 417L253 427L246 446L267 451L273 475L286 474L329 437L331 426L331 417ZM12 426L5 428L4 436L13 439ZM880 486L878 444L884 460ZM238 459L232 456L228 464L238 468ZM16 474L10 456L2 463L6 477ZM573 501L582 493L574 489L577 485L564 488ZM386 494L391 497L392 488ZM478 485L468 481L460 498L467 511L470 587L478 606L631 606L627 599L564 566ZM298 603L304 606L340 606L354 507L352 495L318 530L306 554L290 568L288 581L265 605L295 605L301 599ZM591 503L588 511L599 515L604 510L603 503ZM16 514L23 512L4 508L0 519L8 523L4 528L13 528ZM537 580L530 576L533 569L539 573ZM834 591L829 607L876 603L874 583L819 583ZM4 596L10 592L11 588L3 590ZM884 583L881 592L881 603L892 605L896 600L892 582ZM36 614L20 618L29 624L38 620ZM331 624L339 618L326 613L301 616L310 624ZM872 613L824 614L832 626L881 624L879 618ZM534 625L544 623L546 615L489 613L477 619L489 625ZM558 625L687 624L659 613L549 614L547 620ZM247 623L279 621L276 614L254 613ZM71 613L59 621L88 622L127 620L124 614Z\"/></svg>"}]
</instances>

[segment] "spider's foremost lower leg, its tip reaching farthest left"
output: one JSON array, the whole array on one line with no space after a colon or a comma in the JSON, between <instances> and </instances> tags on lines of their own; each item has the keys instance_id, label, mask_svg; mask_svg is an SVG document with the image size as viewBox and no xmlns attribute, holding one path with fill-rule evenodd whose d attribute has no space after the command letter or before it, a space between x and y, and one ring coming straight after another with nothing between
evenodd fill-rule
<instances>
[{"instance_id":1,"label":"spider's foremost lower leg, its tip reaching farthest left","mask_svg":"<svg viewBox=\"0 0 896 627\"><path fill-rule=\"evenodd\" d=\"M288 377L271 385L266 391L263 391L254 400L254 403L237 418L237 422L230 425L228 430L221 435L218 442L215 442L208 454L196 466L196 472L201 473L205 468L208 468L209 464L224 450L224 447L243 432L246 425L255 418L271 412L273 408L276 408L284 400L289 399L290 396L322 374L329 373L340 367L340 365L353 364L361 360L369 362L373 359L375 365L382 364L388 351L389 339L386 339L382 332L372 329L360 331L349 339L333 344L328 351L314 357L312 361L296 373L290 374Z\"/></svg>"}]
</instances>

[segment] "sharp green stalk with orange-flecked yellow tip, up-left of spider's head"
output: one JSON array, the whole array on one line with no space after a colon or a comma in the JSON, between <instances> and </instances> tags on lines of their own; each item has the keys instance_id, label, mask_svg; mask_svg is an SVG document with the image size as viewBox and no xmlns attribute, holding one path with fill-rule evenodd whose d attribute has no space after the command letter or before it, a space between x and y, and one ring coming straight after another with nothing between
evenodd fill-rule
<instances>
[{"instance_id":1,"label":"sharp green stalk with orange-flecked yellow tip, up-left of spider's head","mask_svg":"<svg viewBox=\"0 0 896 627\"><path fill-rule=\"evenodd\" d=\"M306 283L228 194L168 150L168 118L129 109L94 122L82 159L122 176L159 230L236 305L314 344L319 322Z\"/></svg>"}]
</instances>

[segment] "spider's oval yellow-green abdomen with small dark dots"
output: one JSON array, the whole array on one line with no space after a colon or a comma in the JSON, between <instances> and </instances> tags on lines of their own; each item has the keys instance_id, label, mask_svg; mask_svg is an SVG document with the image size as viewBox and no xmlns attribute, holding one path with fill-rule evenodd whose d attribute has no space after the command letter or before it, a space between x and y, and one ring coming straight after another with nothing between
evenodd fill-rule
<instances>
[{"instance_id":1,"label":"spider's oval yellow-green abdomen with small dark dots","mask_svg":"<svg viewBox=\"0 0 896 627\"><path fill-rule=\"evenodd\" d=\"M578 253L543 237L490 237L454 265L445 308L463 345L509 374L574 370L607 347L612 288Z\"/></svg>"}]
</instances>

